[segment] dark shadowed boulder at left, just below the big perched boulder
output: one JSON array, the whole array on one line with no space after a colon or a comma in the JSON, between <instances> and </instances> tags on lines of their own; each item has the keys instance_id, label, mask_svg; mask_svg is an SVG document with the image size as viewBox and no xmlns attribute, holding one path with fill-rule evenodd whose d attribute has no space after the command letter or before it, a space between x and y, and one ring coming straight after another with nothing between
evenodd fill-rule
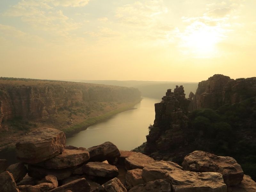
<instances>
[{"instance_id":1,"label":"dark shadowed boulder at left, just below the big perched boulder","mask_svg":"<svg viewBox=\"0 0 256 192\"><path fill-rule=\"evenodd\" d=\"M6 171L12 173L12 176L16 183L20 182L28 172L27 167L25 167L23 163L12 164L7 167Z\"/></svg>"}]
</instances>

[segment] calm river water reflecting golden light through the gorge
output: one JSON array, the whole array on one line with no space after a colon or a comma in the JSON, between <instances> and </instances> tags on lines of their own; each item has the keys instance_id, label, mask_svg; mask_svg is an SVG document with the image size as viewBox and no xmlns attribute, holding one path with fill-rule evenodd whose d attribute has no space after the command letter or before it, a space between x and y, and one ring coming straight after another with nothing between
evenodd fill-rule
<instances>
[{"instance_id":1,"label":"calm river water reflecting golden light through the gorge","mask_svg":"<svg viewBox=\"0 0 256 192\"><path fill-rule=\"evenodd\" d=\"M149 124L154 123L157 99L144 98L134 109L92 125L67 139L67 146L89 148L111 141L119 149L131 150L146 141Z\"/></svg>"}]
</instances>

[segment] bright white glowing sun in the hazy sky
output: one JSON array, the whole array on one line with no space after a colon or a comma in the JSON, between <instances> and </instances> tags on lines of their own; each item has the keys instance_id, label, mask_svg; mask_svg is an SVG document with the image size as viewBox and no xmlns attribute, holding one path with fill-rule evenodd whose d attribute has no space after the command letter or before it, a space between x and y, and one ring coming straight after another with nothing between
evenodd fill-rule
<instances>
[{"instance_id":1,"label":"bright white glowing sun in the hazy sky","mask_svg":"<svg viewBox=\"0 0 256 192\"><path fill-rule=\"evenodd\" d=\"M188 28L181 39L185 52L198 58L214 57L218 52L216 45L221 40L216 28L204 25Z\"/></svg>"}]
</instances>

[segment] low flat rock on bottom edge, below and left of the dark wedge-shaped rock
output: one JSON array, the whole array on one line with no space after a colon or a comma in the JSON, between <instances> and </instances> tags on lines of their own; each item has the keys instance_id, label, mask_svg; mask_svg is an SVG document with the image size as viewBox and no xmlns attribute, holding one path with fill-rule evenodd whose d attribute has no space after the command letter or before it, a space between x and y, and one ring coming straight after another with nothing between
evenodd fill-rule
<instances>
[{"instance_id":1,"label":"low flat rock on bottom edge, below and left of the dark wedge-shaped rock","mask_svg":"<svg viewBox=\"0 0 256 192\"><path fill-rule=\"evenodd\" d=\"M38 185L20 185L18 186L20 192L48 192L51 189L54 189L52 183L40 183Z\"/></svg>"}]
</instances>

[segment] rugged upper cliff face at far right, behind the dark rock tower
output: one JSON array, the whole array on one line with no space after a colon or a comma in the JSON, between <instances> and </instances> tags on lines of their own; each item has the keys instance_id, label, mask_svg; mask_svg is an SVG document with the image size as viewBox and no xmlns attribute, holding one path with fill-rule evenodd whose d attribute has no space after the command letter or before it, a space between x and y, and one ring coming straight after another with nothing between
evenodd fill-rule
<instances>
[{"instance_id":1,"label":"rugged upper cliff face at far right, behind the dark rock tower","mask_svg":"<svg viewBox=\"0 0 256 192\"><path fill-rule=\"evenodd\" d=\"M224 75L214 75L198 84L196 94L189 97L192 101L190 111L200 108L217 109L225 104L234 104L256 95L256 77L230 79Z\"/></svg>"}]
</instances>

